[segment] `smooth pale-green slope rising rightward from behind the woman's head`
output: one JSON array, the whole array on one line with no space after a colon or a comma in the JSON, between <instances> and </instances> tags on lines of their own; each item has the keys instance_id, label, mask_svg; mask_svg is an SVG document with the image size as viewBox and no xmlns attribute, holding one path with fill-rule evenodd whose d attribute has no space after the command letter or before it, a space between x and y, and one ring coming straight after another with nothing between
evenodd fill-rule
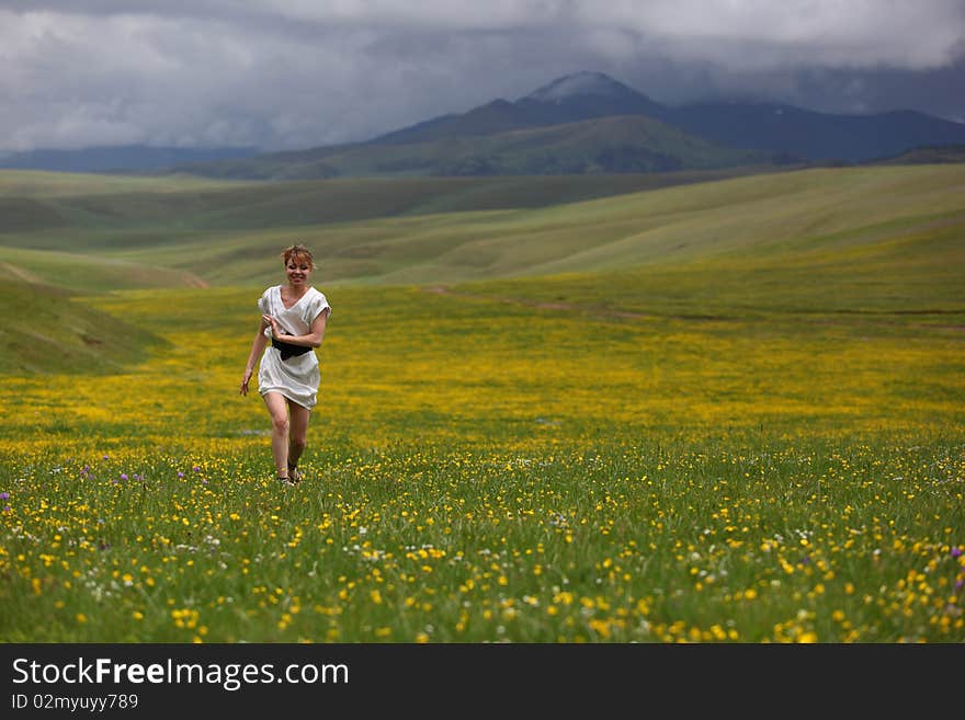
<instances>
[{"instance_id":1,"label":"smooth pale-green slope rising rightward from behind the woman's head","mask_svg":"<svg viewBox=\"0 0 965 720\"><path fill-rule=\"evenodd\" d=\"M965 216L965 168L814 170L567 206L425 215L306 228L327 282L430 284L635 266L747 268L785 259L845 270L863 254L949 270ZM209 279L264 282L264 238L238 236ZM277 244L277 243L276 243ZM923 245L933 245L922 252ZM147 255L145 255L147 258ZM185 270L192 270L186 266ZM861 267L854 267L861 271Z\"/></svg>"}]
</instances>

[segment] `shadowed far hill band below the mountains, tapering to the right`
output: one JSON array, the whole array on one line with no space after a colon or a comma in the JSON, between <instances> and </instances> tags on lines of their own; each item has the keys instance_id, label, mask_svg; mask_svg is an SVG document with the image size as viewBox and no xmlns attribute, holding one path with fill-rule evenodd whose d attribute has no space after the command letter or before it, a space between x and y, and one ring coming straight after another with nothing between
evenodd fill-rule
<instances>
[{"instance_id":1,"label":"shadowed far hill band below the mountains, tapering to the right","mask_svg":"<svg viewBox=\"0 0 965 720\"><path fill-rule=\"evenodd\" d=\"M3 236L50 227L107 232L239 230L398 215L543 207L752 172L701 171L600 176L422 178L214 182L191 178L118 180L0 171ZM66 173L65 173L66 174ZM2 240L2 238L0 238ZM0 242L0 244L11 244Z\"/></svg>"}]
</instances>

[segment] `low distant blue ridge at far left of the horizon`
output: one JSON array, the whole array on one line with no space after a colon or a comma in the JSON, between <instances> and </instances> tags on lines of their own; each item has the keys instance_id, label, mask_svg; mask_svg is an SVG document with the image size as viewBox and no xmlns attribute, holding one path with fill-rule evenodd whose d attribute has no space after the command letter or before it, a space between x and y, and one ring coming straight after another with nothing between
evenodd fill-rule
<instances>
[{"instance_id":1,"label":"low distant blue ridge at far left of the horizon","mask_svg":"<svg viewBox=\"0 0 965 720\"><path fill-rule=\"evenodd\" d=\"M52 170L57 172L152 172L188 163L212 162L252 156L254 148L167 148L122 145L79 150L38 149L0 157L8 170Z\"/></svg>"}]
</instances>

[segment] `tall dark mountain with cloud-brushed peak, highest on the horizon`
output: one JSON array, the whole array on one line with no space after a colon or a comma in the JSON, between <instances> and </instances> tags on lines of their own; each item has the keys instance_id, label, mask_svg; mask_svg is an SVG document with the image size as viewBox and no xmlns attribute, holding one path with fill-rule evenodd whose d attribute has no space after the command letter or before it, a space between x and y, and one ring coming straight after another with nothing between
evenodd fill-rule
<instances>
[{"instance_id":1,"label":"tall dark mountain with cloud-brushed peak, highest on the horizon","mask_svg":"<svg viewBox=\"0 0 965 720\"><path fill-rule=\"evenodd\" d=\"M231 179L666 172L772 165L665 122L668 108L598 72L515 102L495 100L365 142L265 153L178 170ZM785 156L782 159L786 162Z\"/></svg>"}]
</instances>

